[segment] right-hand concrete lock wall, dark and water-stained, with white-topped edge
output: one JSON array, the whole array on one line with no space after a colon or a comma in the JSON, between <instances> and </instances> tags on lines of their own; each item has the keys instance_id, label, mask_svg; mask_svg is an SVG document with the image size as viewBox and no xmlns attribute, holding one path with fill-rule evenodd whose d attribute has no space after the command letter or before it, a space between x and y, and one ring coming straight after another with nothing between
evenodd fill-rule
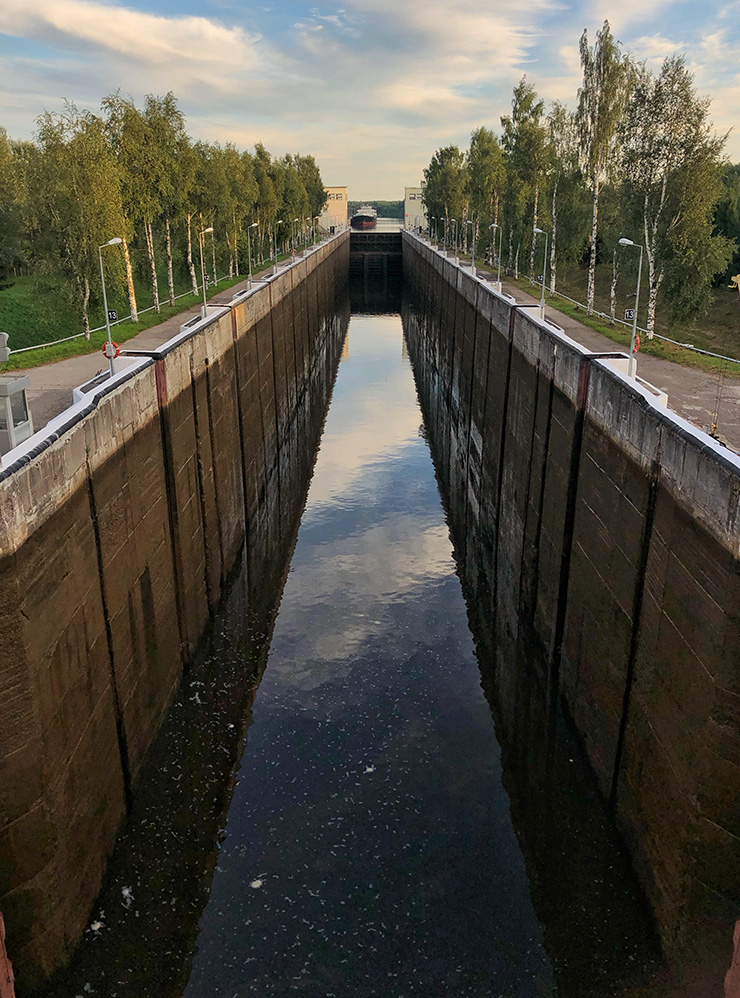
<instances>
[{"instance_id":1,"label":"right-hand concrete lock wall, dark and water-stained, with white-topped edge","mask_svg":"<svg viewBox=\"0 0 740 998\"><path fill-rule=\"evenodd\" d=\"M701 923L731 952L740 461L536 311L408 233L403 248L456 553L495 633L501 737L522 683L564 704L664 945Z\"/></svg>"}]
</instances>

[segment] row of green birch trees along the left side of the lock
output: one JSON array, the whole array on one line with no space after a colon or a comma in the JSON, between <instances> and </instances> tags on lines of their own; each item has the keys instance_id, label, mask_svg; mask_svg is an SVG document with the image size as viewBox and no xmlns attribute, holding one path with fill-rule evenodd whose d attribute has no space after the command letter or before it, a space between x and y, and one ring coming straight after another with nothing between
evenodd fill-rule
<instances>
[{"instance_id":1,"label":"row of green birch trees along the left side of the lock","mask_svg":"<svg viewBox=\"0 0 740 998\"><path fill-rule=\"evenodd\" d=\"M99 114L67 103L37 119L33 141L11 140L0 127L0 282L19 271L65 275L89 334L90 302L101 296L98 247L110 239L122 242L103 254L106 284L125 288L135 322L132 257L159 311L162 297L175 303L177 268L198 293L199 239L211 279L217 244L238 276L247 269L247 228L253 259L264 261L275 238L284 247L310 230L325 201L313 156L193 141L172 92L147 96L143 107L109 94Z\"/></svg>"}]
</instances>

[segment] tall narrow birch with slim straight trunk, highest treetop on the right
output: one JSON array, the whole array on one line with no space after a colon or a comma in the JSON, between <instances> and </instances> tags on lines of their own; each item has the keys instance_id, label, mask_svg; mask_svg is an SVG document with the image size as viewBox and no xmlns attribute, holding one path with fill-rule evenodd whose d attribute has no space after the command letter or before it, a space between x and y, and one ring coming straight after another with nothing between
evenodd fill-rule
<instances>
[{"instance_id":1,"label":"tall narrow birch with slim straight trunk, highest treetop on the right","mask_svg":"<svg viewBox=\"0 0 740 998\"><path fill-rule=\"evenodd\" d=\"M578 91L578 133L583 170L591 185L591 247L588 262L586 311L594 310L596 255L599 222L599 192L617 159L619 124L624 114L632 79L629 59L622 55L604 21L589 47L586 31L580 41L583 83Z\"/></svg>"}]
</instances>

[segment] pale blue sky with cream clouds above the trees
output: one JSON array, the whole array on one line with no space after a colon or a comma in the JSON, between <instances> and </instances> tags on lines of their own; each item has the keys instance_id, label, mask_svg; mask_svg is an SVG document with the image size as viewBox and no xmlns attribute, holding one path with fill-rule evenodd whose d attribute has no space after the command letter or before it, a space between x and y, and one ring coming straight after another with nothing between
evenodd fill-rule
<instances>
[{"instance_id":1,"label":"pale blue sky with cream clouds above the trees","mask_svg":"<svg viewBox=\"0 0 740 998\"><path fill-rule=\"evenodd\" d=\"M686 56L740 161L740 0L2 0L0 125L31 138L65 98L172 90L193 138L311 153L350 199L397 200L435 149L498 133L523 74L573 108L604 18L653 69Z\"/></svg>"}]
</instances>

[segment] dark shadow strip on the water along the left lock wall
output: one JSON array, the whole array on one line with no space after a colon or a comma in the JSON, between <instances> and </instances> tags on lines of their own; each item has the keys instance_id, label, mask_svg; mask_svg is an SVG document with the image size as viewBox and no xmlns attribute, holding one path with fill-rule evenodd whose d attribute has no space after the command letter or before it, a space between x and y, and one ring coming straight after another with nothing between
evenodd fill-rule
<instances>
[{"instance_id":1,"label":"dark shadow strip on the water along the left lock wall","mask_svg":"<svg viewBox=\"0 0 740 998\"><path fill-rule=\"evenodd\" d=\"M249 563L242 552L147 755L91 928L70 965L35 990L36 998L182 994L348 319L348 301L337 303L290 439L281 444L288 458L276 461L250 529Z\"/></svg>"}]
</instances>

